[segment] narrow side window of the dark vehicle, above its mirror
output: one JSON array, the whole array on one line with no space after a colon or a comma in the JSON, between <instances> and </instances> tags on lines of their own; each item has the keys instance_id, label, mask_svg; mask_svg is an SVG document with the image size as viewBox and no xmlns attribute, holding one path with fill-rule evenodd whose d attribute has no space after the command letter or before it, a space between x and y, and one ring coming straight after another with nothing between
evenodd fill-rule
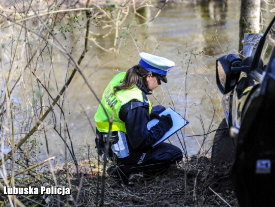
<instances>
[{"instance_id":1,"label":"narrow side window of the dark vehicle, above its mirror","mask_svg":"<svg viewBox=\"0 0 275 207\"><path fill-rule=\"evenodd\" d=\"M258 62L257 71L262 73L266 70L266 66L269 63L271 53L275 44L275 23L272 25L267 33L265 42L262 48L261 56Z\"/></svg>"}]
</instances>

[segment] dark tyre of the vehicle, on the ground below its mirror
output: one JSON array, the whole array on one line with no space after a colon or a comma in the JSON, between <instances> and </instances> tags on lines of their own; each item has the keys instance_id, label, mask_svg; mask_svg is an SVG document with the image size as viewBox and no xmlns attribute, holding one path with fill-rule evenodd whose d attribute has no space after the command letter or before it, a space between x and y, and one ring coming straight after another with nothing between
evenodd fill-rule
<instances>
[{"instance_id":1,"label":"dark tyre of the vehicle, on the ground below its mirror","mask_svg":"<svg viewBox=\"0 0 275 207\"><path fill-rule=\"evenodd\" d=\"M229 129L224 119L219 124L214 136L211 161L212 163L227 162L232 163L235 160L236 147L233 139L229 135Z\"/></svg>"}]
</instances>

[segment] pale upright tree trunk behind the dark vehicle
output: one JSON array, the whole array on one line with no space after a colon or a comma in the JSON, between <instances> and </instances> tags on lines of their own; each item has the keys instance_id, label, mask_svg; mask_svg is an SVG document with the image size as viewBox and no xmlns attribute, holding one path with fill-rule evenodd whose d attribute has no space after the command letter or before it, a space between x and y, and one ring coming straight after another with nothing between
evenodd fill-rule
<instances>
[{"instance_id":1,"label":"pale upright tree trunk behind the dark vehicle","mask_svg":"<svg viewBox=\"0 0 275 207\"><path fill-rule=\"evenodd\" d=\"M241 0L239 51L242 50L245 33L260 32L260 0Z\"/></svg>"}]
</instances>

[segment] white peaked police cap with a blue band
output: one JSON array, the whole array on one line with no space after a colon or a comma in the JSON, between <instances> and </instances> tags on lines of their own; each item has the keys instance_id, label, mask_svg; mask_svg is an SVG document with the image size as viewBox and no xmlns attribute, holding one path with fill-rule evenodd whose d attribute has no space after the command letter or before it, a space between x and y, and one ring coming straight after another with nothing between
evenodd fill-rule
<instances>
[{"instance_id":1,"label":"white peaked police cap with a blue band","mask_svg":"<svg viewBox=\"0 0 275 207\"><path fill-rule=\"evenodd\" d=\"M141 61L139 64L144 69L160 75L166 75L167 71L171 70L175 66L173 61L170 61L165 57L159 57L146 52L141 52L140 57Z\"/></svg>"}]
</instances>

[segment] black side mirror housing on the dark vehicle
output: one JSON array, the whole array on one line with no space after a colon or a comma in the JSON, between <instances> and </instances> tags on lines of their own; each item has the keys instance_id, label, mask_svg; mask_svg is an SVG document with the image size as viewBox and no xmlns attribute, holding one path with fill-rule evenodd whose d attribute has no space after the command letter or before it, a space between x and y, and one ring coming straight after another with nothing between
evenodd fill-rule
<instances>
[{"instance_id":1,"label":"black side mirror housing on the dark vehicle","mask_svg":"<svg viewBox=\"0 0 275 207\"><path fill-rule=\"evenodd\" d=\"M227 94L233 90L240 77L242 60L235 54L224 55L216 61L216 82L219 91Z\"/></svg>"}]
</instances>

